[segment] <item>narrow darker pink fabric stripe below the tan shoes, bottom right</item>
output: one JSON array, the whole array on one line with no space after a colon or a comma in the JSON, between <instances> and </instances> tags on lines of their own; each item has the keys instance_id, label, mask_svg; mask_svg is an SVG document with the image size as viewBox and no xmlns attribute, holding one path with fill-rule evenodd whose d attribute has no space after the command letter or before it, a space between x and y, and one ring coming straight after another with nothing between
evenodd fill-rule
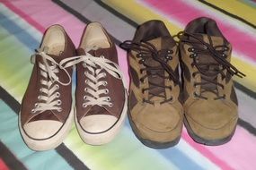
<instances>
[{"instance_id":1,"label":"narrow darker pink fabric stripe below the tan shoes, bottom right","mask_svg":"<svg viewBox=\"0 0 256 170\"><path fill-rule=\"evenodd\" d=\"M207 157L210 159L214 164L219 166L221 169L229 170L229 169L234 169L233 167L229 166L228 164L225 163L224 160L218 157L218 155L213 154L208 147L201 145L199 143L196 143L194 140L192 140L188 134L187 131L183 130L182 132L182 139L187 141L191 147L194 149L197 149L204 157Z\"/></svg>"}]
</instances>

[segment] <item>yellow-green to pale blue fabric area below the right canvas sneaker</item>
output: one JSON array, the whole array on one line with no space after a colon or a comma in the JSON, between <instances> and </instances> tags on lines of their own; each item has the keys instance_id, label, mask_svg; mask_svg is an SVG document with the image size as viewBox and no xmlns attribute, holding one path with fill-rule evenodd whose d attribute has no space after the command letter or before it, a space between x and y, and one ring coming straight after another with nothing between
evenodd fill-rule
<instances>
[{"instance_id":1,"label":"yellow-green to pale blue fabric area below the right canvas sneaker","mask_svg":"<svg viewBox=\"0 0 256 170\"><path fill-rule=\"evenodd\" d=\"M111 170L178 169L155 149L141 144L127 126L113 141L103 146L84 144L73 127L64 143L92 169L105 170L106 167Z\"/></svg>"}]
</instances>

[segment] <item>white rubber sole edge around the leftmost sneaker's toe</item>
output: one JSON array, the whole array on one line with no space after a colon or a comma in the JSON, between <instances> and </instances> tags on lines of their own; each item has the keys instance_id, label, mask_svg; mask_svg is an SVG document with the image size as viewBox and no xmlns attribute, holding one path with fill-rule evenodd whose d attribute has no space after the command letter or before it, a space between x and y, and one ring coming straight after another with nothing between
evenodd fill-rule
<instances>
[{"instance_id":1,"label":"white rubber sole edge around the leftmost sneaker's toe","mask_svg":"<svg viewBox=\"0 0 256 170\"><path fill-rule=\"evenodd\" d=\"M20 132L22 134L23 140L25 141L26 145L30 149L33 149L36 151L49 150L49 149L57 148L57 146L60 145L62 141L66 138L69 130L72 127L73 119L74 119L74 109L71 108L71 111L67 117L66 123L63 125L60 131L57 132L56 135L54 135L53 137L47 140L33 140L26 135L26 133L23 131L23 128L22 128L21 113L19 113L19 128L20 128Z\"/></svg>"}]
</instances>

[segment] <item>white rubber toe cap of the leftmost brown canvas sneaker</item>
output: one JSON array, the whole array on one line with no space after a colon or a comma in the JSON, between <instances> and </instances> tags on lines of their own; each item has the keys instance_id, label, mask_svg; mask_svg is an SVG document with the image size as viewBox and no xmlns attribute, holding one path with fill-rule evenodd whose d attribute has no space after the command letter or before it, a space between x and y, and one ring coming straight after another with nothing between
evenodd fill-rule
<instances>
[{"instance_id":1,"label":"white rubber toe cap of the leftmost brown canvas sneaker","mask_svg":"<svg viewBox=\"0 0 256 170\"><path fill-rule=\"evenodd\" d=\"M61 128L63 123L52 120L40 120L31 123L26 123L24 125L24 131L33 139L43 140L47 139Z\"/></svg>"}]
</instances>

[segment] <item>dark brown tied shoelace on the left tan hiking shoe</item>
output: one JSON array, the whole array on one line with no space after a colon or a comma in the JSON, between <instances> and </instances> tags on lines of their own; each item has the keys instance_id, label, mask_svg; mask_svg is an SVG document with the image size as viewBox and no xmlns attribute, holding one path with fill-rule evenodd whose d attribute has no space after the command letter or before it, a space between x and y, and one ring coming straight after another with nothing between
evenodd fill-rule
<instances>
[{"instance_id":1,"label":"dark brown tied shoelace on the left tan hiking shoe","mask_svg":"<svg viewBox=\"0 0 256 170\"><path fill-rule=\"evenodd\" d=\"M170 79L175 84L179 84L179 76L172 70L171 66L167 64L169 60L172 60L172 54L173 51L169 49L162 49L157 50L156 47L154 47L153 44L149 42L141 41L140 43L136 43L130 40L124 41L122 44L120 44L120 47L126 49L126 50L133 50L137 52L137 58L140 58L139 64L143 64L145 68L140 69L140 72L146 72L146 75L140 79L141 83L144 82L144 80L150 76L158 76L162 79ZM146 60L151 57L154 61L158 62L159 66L151 66L146 64ZM164 73L168 72L168 76L164 76ZM149 79L148 79L149 80ZM162 95L160 93L155 93L151 89L155 88L163 88L163 89L171 89L172 86L164 86L161 84L156 84L155 82L148 81L148 84L150 85L149 88L142 89L142 92L144 93L146 90L148 90L148 93L150 94L149 98L146 100L144 98L144 102L149 104L154 104L153 101L151 101L151 98L154 97L160 97L164 98L161 104L172 101L172 98L166 98L165 95Z\"/></svg>"}]
</instances>

